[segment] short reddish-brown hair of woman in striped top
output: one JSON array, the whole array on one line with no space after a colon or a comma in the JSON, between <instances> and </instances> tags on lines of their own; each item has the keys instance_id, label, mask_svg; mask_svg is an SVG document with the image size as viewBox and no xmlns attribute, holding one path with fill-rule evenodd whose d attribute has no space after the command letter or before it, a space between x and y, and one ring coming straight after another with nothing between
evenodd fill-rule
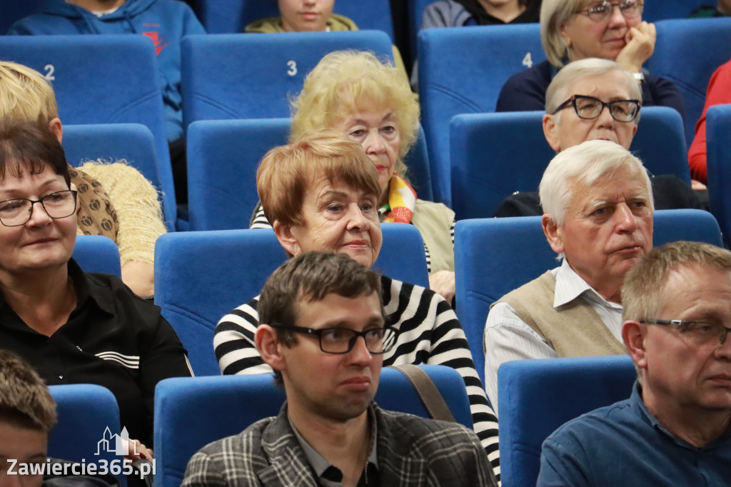
<instances>
[{"instance_id":1,"label":"short reddish-brown hair of woman in striped top","mask_svg":"<svg viewBox=\"0 0 731 487\"><path fill-rule=\"evenodd\" d=\"M379 200L378 171L360 144L336 132L311 132L270 150L257 169L257 192L269 222L303 224L305 192L322 174Z\"/></svg>"}]
</instances>

